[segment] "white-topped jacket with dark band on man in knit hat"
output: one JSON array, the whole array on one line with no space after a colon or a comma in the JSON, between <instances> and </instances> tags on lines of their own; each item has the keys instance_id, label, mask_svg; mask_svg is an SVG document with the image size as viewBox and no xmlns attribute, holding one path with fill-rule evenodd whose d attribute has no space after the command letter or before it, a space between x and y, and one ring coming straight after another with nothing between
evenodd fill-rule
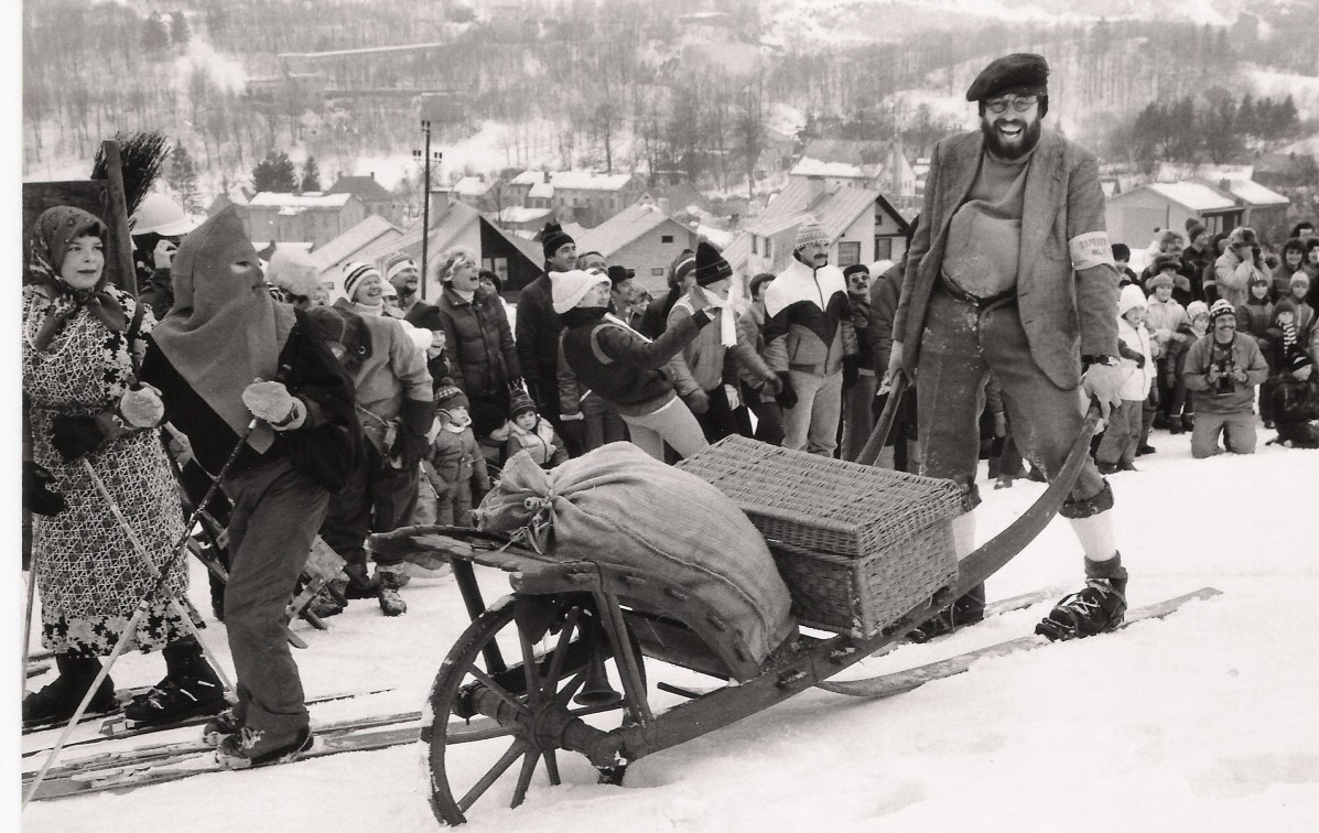
<instances>
[{"instance_id":1,"label":"white-topped jacket with dark band on man in knit hat","mask_svg":"<svg viewBox=\"0 0 1319 833\"><path fill-rule=\"evenodd\" d=\"M843 272L793 262L765 290L765 364L774 373L828 376L857 353Z\"/></svg>"}]
</instances>

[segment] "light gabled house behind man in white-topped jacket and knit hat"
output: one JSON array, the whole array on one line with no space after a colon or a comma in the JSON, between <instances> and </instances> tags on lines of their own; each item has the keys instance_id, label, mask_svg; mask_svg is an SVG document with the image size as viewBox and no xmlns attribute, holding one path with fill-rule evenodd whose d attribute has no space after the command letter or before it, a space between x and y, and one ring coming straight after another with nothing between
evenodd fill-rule
<instances>
[{"instance_id":1,"label":"light gabled house behind man in white-topped jacket and knit hat","mask_svg":"<svg viewBox=\"0 0 1319 833\"><path fill-rule=\"evenodd\" d=\"M909 223L882 194L794 177L739 235L747 237L744 273L782 272L793 257L797 229L810 217L828 235L830 264L836 266L896 261L906 252ZM740 246L735 254L741 258Z\"/></svg>"}]
</instances>

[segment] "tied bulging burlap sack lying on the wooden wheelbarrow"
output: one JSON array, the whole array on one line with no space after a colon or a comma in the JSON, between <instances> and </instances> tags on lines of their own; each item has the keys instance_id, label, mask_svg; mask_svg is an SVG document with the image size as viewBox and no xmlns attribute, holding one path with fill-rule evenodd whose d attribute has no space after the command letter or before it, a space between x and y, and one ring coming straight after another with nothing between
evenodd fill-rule
<instances>
[{"instance_id":1,"label":"tied bulging burlap sack lying on the wooden wheelbarrow","mask_svg":"<svg viewBox=\"0 0 1319 833\"><path fill-rule=\"evenodd\" d=\"M747 515L632 443L549 472L520 452L475 514L479 529L505 534L539 515L553 527L546 554L634 567L687 590L747 641L756 662L793 627L787 587Z\"/></svg>"}]
</instances>

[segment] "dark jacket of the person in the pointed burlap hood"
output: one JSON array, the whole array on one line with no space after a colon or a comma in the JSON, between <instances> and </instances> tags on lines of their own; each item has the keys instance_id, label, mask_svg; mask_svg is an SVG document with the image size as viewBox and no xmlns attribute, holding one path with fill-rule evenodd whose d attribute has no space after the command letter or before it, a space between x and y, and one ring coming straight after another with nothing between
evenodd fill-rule
<instances>
[{"instance_id":1,"label":"dark jacket of the person in the pointed burlap hood","mask_svg":"<svg viewBox=\"0 0 1319 833\"><path fill-rule=\"evenodd\" d=\"M301 310L294 310L294 326L280 351L278 366L285 368L280 381L307 405L306 420L293 431L276 432L274 444L264 453L244 444L230 471L248 471L286 457L303 474L338 492L364 455L352 380ZM187 435L202 468L219 473L237 443L233 428L211 410L156 344L142 359L141 381L161 390L166 416Z\"/></svg>"}]
</instances>

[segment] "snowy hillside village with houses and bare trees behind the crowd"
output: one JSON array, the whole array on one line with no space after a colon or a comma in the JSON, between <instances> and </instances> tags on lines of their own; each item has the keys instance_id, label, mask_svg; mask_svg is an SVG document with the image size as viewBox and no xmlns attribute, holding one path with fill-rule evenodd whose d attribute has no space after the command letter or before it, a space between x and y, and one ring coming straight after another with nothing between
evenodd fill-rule
<instances>
[{"instance_id":1,"label":"snowy hillside village with houses and bare trees behind the crowd","mask_svg":"<svg viewBox=\"0 0 1319 833\"><path fill-rule=\"evenodd\" d=\"M1099 154L1137 266L1188 219L1277 248L1319 212L1314 0L1091 7L26 3L24 179L86 178L100 140L154 130L197 223L236 206L264 257L303 248L332 294L343 264L425 245L472 250L516 298L550 220L658 294L698 239L781 270L806 217L834 264L901 258L934 144L975 128L967 84L1038 51L1047 125Z\"/></svg>"}]
</instances>

